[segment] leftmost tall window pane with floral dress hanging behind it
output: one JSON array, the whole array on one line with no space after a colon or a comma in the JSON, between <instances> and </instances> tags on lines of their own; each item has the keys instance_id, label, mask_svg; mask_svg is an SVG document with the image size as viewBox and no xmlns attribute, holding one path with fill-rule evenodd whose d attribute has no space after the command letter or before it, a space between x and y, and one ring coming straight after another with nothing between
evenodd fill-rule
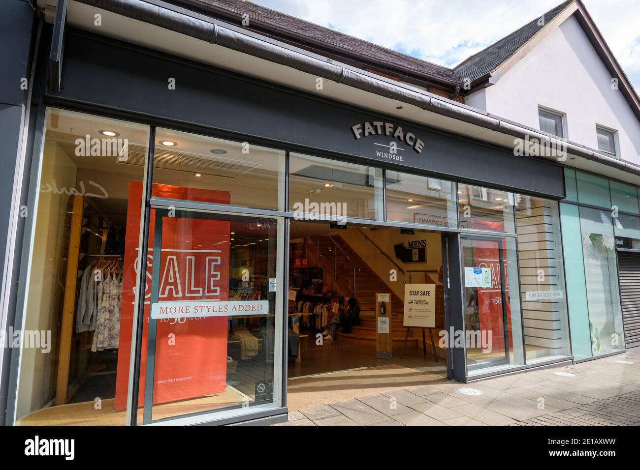
<instances>
[{"instance_id":1,"label":"leftmost tall window pane with floral dress hanging behind it","mask_svg":"<svg viewBox=\"0 0 640 470\"><path fill-rule=\"evenodd\" d=\"M116 382L129 380L122 286L136 274L124 251L140 230L129 186L143 180L131 161L145 159L148 136L147 126L47 110L24 329L51 338L20 350L19 425L125 424L115 403Z\"/></svg>"}]
</instances>

